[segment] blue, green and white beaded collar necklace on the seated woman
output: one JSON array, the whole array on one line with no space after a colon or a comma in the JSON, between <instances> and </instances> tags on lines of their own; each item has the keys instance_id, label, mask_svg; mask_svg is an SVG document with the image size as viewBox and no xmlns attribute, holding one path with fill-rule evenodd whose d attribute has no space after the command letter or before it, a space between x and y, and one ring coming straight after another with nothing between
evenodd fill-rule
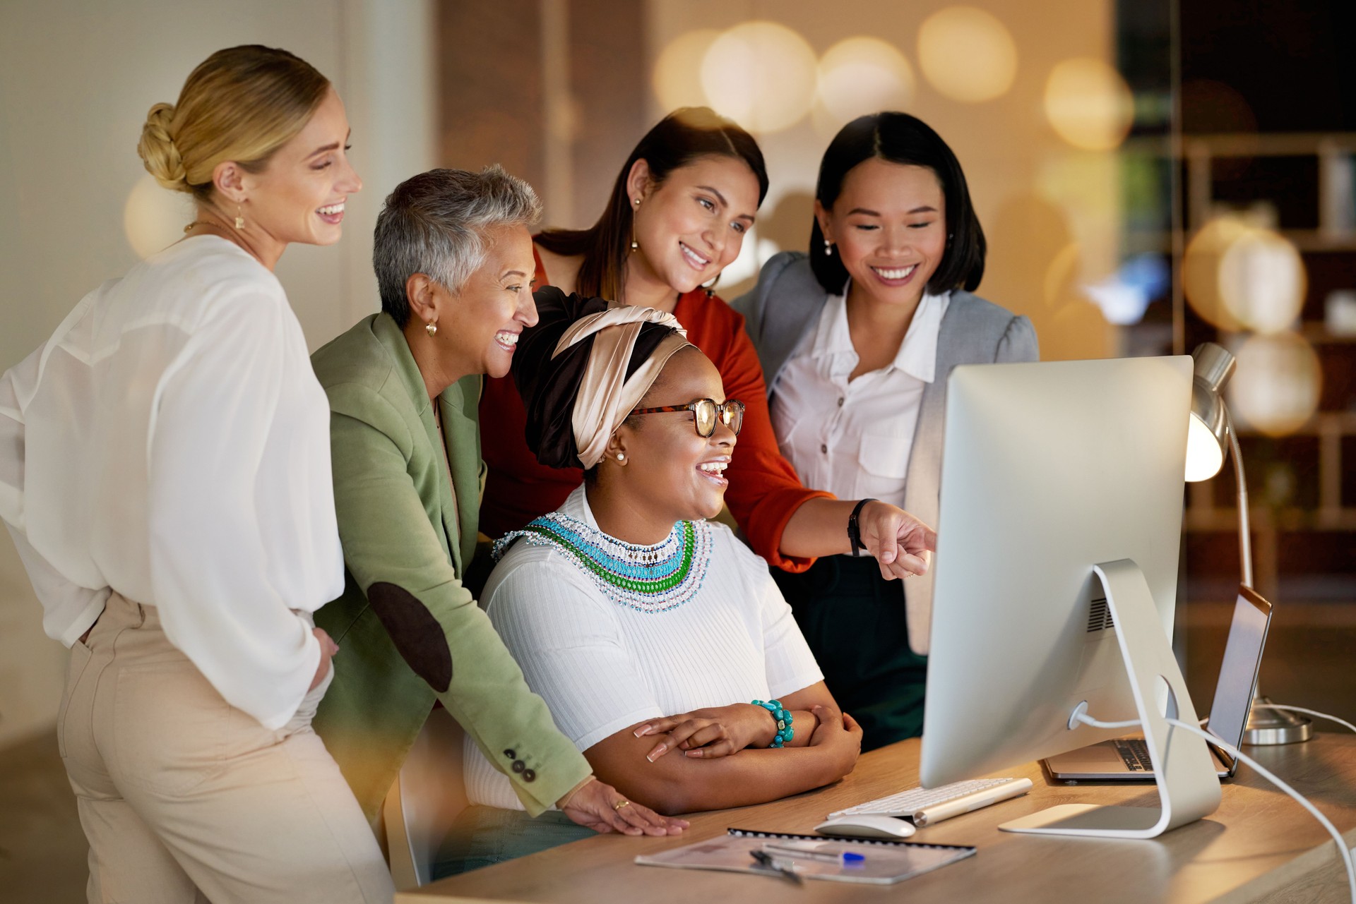
<instances>
[{"instance_id":1,"label":"blue, green and white beaded collar necklace on the seated woman","mask_svg":"<svg viewBox=\"0 0 1356 904\"><path fill-rule=\"evenodd\" d=\"M706 522L681 520L662 542L637 546L578 518L551 512L495 541L495 561L518 538L561 550L609 599L641 613L667 611L696 596L711 561Z\"/></svg>"}]
</instances>

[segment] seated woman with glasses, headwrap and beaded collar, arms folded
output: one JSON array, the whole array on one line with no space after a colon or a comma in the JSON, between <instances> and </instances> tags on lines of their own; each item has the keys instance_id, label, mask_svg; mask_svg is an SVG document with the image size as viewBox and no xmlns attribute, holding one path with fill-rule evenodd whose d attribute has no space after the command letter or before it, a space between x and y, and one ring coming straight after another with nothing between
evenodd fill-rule
<instances>
[{"instance_id":1,"label":"seated woman with glasses, headwrap and beaded collar, arms folded","mask_svg":"<svg viewBox=\"0 0 1356 904\"><path fill-rule=\"evenodd\" d=\"M481 598L527 684L599 779L663 813L848 774L861 731L766 562L704 520L720 511L743 405L671 314L556 289L537 309L513 362L527 442L545 465L583 468L584 484L498 543ZM447 871L584 835L540 839L509 779L466 752L479 806Z\"/></svg>"}]
</instances>

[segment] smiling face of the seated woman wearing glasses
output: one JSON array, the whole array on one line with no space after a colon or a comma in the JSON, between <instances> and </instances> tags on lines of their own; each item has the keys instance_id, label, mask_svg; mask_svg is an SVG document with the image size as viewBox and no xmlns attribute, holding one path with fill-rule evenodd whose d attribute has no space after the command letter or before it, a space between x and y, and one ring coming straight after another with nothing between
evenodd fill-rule
<instances>
[{"instance_id":1,"label":"smiling face of the seated woman wearing glasses","mask_svg":"<svg viewBox=\"0 0 1356 904\"><path fill-rule=\"evenodd\" d=\"M720 373L696 348L683 348L664 365L639 408L686 405L698 398L725 400ZM692 411L636 415L617 430L626 455L618 476L632 484L655 522L715 518L725 501L724 477L735 434L719 417L711 436L701 436Z\"/></svg>"}]
</instances>

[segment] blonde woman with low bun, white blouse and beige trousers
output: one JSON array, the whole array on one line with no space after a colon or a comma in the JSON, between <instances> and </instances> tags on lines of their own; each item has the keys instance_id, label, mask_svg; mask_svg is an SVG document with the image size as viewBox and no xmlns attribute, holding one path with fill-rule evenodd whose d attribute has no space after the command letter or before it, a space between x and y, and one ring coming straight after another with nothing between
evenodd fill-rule
<instances>
[{"instance_id":1,"label":"blonde woman with low bun, white blouse and beige trousers","mask_svg":"<svg viewBox=\"0 0 1356 904\"><path fill-rule=\"evenodd\" d=\"M57 740L91 901L389 901L311 717L343 590L330 408L273 267L361 188L330 81L232 47L137 150L183 241L0 378L0 516L71 648Z\"/></svg>"}]
</instances>

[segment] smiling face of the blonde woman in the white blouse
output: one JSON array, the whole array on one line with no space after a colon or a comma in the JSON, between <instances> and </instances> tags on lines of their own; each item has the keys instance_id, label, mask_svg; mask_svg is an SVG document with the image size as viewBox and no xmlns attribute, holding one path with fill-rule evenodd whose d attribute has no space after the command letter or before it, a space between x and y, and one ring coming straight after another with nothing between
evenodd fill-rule
<instances>
[{"instance_id":1,"label":"smiling face of the blonde woman in the white blouse","mask_svg":"<svg viewBox=\"0 0 1356 904\"><path fill-rule=\"evenodd\" d=\"M245 230L278 245L332 245L343 234L344 201L362 188L348 164L348 117L330 89L306 125L268 159L263 172L240 173ZM228 164L229 165L229 164ZM226 217L236 202L220 199Z\"/></svg>"}]
</instances>

